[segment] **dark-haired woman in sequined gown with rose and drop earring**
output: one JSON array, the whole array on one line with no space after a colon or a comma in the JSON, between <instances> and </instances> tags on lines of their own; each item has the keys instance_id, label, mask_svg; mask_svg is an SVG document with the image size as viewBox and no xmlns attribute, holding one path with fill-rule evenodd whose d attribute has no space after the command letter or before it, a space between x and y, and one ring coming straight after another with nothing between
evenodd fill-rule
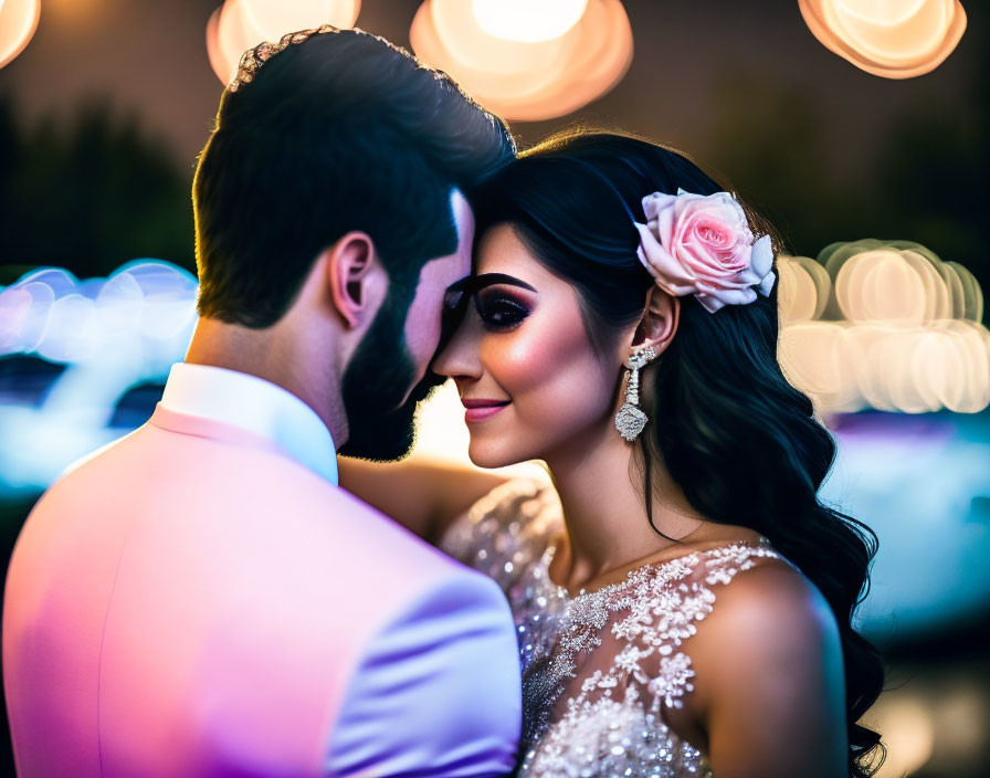
<instances>
[{"instance_id":1,"label":"dark-haired woman in sequined gown with rose and drop earring","mask_svg":"<svg viewBox=\"0 0 990 778\"><path fill-rule=\"evenodd\" d=\"M875 538L817 498L834 442L778 365L760 222L612 134L541 144L476 202L433 369L474 463L544 460L557 494L513 481L455 521L494 475L348 464L344 484L502 584L520 774L868 775L882 669L850 617Z\"/></svg>"}]
</instances>

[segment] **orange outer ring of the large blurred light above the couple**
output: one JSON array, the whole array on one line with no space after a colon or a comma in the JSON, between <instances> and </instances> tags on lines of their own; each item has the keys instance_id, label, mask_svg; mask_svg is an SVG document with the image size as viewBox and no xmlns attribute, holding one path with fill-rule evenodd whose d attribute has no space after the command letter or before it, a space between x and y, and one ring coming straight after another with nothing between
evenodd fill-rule
<instances>
[{"instance_id":1,"label":"orange outer ring of the large blurred light above the couple","mask_svg":"<svg viewBox=\"0 0 990 778\"><path fill-rule=\"evenodd\" d=\"M486 108L524 122L577 111L611 90L632 61L632 28L619 0L589 0L576 24L539 42L492 34L464 0L425 0L409 38L420 60Z\"/></svg>"}]
</instances>

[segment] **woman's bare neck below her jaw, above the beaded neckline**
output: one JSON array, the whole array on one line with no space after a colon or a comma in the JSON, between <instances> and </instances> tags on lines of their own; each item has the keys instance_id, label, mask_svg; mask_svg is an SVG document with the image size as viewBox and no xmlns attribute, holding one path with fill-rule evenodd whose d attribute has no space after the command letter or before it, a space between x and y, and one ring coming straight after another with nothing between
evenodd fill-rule
<instances>
[{"instance_id":1,"label":"woman's bare neck below her jaw, above the beaded neckline","mask_svg":"<svg viewBox=\"0 0 990 778\"><path fill-rule=\"evenodd\" d=\"M644 476L633 465L634 446L614 430L609 432L547 459L566 526L552 578L568 589L645 561L688 537L704 540L712 526L691 506L663 463L652 462L653 523L667 537L655 533L646 515Z\"/></svg>"}]
</instances>

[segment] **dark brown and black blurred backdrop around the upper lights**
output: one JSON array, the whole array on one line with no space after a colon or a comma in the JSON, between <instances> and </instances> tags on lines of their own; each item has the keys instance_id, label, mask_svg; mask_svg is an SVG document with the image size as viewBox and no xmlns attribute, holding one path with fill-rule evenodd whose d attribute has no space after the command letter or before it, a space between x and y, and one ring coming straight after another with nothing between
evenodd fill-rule
<instances>
[{"instance_id":1,"label":"dark brown and black blurred backdrop around the upper lights","mask_svg":"<svg viewBox=\"0 0 990 778\"><path fill-rule=\"evenodd\" d=\"M0 284L38 264L81 277L137 256L192 269L188 192L221 91L204 44L217 4L43 3L34 40L0 71ZM408 45L418 4L365 0L358 25ZM522 145L578 120L641 133L727 177L794 253L912 240L988 284L986 3L967 3L942 65L906 81L829 52L793 1L625 7L625 78L577 114L514 125Z\"/></svg>"}]
</instances>

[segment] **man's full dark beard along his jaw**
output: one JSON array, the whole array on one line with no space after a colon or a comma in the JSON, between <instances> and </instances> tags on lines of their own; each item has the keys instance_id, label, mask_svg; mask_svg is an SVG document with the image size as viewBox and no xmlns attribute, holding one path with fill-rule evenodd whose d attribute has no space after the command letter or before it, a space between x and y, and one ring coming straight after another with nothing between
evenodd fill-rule
<instances>
[{"instance_id":1,"label":"man's full dark beard along his jaw","mask_svg":"<svg viewBox=\"0 0 990 778\"><path fill-rule=\"evenodd\" d=\"M412 387L417 369L406 348L406 301L386 298L358 345L340 385L350 434L345 456L391 462L415 443L415 408L446 379L432 372ZM400 404L401 403L401 404Z\"/></svg>"}]
</instances>

